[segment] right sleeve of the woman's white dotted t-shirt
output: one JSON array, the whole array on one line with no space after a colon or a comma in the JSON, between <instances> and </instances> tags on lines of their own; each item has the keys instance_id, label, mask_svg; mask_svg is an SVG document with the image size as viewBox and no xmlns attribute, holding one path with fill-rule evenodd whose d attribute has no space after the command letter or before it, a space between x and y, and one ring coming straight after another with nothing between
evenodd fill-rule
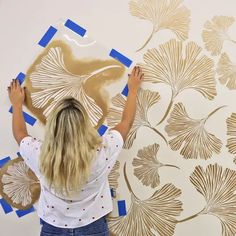
<instances>
[{"instance_id":1,"label":"right sleeve of the woman's white dotted t-shirt","mask_svg":"<svg viewBox=\"0 0 236 236\"><path fill-rule=\"evenodd\" d=\"M124 141L117 130L110 130L103 137L105 156L103 157L104 166L109 174L122 150Z\"/></svg>"}]
</instances>

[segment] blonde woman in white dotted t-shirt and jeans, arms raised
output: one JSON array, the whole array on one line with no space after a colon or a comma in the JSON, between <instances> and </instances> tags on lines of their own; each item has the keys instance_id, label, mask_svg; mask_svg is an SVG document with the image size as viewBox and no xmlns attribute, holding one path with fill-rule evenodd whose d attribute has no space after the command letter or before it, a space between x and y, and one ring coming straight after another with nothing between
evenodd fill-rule
<instances>
[{"instance_id":1,"label":"blonde woman in white dotted t-shirt and jeans, arms raised","mask_svg":"<svg viewBox=\"0 0 236 236\"><path fill-rule=\"evenodd\" d=\"M58 102L47 119L41 142L28 135L22 114L24 89L17 80L8 87L13 107L12 130L26 164L40 180L37 213L41 236L109 235L105 216L112 211L108 174L122 150L136 113L144 75L134 67L119 124L100 137L80 102Z\"/></svg>"}]
</instances>

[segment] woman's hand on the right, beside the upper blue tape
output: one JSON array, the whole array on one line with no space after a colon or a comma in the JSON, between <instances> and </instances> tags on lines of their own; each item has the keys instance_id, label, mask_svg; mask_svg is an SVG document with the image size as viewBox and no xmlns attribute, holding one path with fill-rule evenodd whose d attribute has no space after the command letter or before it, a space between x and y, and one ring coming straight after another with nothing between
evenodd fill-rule
<instances>
[{"instance_id":1,"label":"woman's hand on the right, beside the upper blue tape","mask_svg":"<svg viewBox=\"0 0 236 236\"><path fill-rule=\"evenodd\" d=\"M135 66L128 79L129 92L137 92L143 78L144 74L142 73L142 69L139 66Z\"/></svg>"}]
</instances>

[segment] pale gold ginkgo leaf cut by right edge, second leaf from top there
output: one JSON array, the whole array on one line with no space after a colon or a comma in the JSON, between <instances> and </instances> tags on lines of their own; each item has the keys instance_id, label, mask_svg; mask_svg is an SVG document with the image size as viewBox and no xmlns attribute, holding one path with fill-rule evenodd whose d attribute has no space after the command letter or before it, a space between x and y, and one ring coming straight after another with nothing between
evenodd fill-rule
<instances>
[{"instance_id":1,"label":"pale gold ginkgo leaf cut by right edge, second leaf from top there","mask_svg":"<svg viewBox=\"0 0 236 236\"><path fill-rule=\"evenodd\" d=\"M229 89L236 89L236 64L232 63L226 53L220 57L217 72L219 81Z\"/></svg>"}]
</instances>

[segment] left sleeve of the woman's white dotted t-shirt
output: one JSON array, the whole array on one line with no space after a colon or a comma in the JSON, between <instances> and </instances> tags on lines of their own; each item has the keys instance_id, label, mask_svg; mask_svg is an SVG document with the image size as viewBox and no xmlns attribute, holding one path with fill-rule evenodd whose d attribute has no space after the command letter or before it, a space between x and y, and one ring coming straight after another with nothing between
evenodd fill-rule
<instances>
[{"instance_id":1,"label":"left sleeve of the woman's white dotted t-shirt","mask_svg":"<svg viewBox=\"0 0 236 236\"><path fill-rule=\"evenodd\" d=\"M39 154L42 142L31 136L20 142L20 154L29 168L39 177Z\"/></svg>"}]
</instances>

